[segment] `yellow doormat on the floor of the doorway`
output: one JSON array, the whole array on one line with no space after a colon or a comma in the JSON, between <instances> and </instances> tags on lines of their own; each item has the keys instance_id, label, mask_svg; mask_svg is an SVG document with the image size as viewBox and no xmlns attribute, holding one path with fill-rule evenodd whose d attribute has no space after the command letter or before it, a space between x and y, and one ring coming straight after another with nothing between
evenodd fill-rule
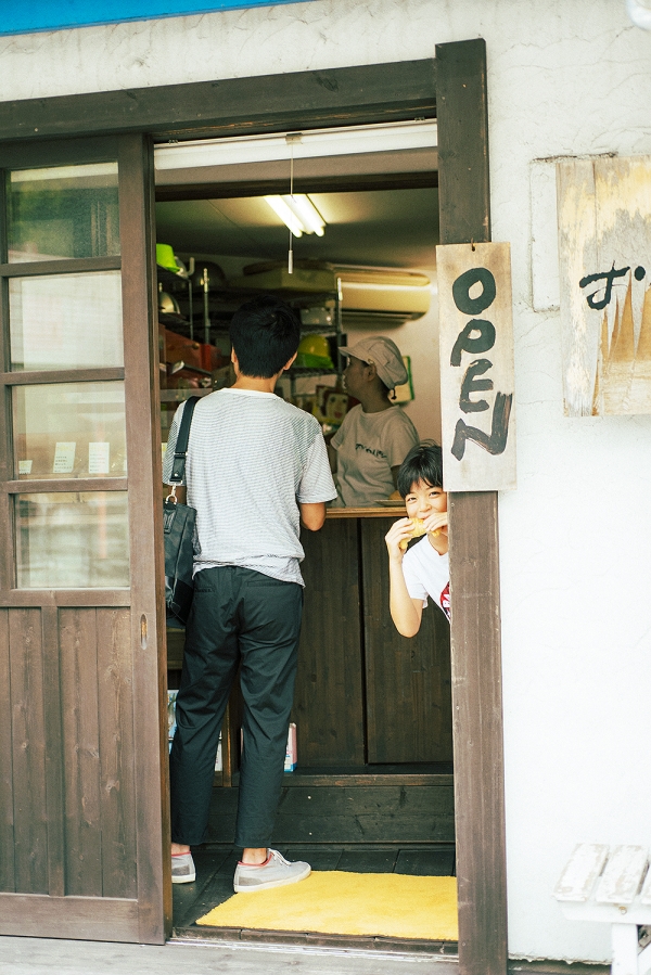
<instances>
[{"instance_id":1,"label":"yellow doormat on the floor of the doorway","mask_svg":"<svg viewBox=\"0 0 651 975\"><path fill-rule=\"evenodd\" d=\"M196 923L456 941L457 880L319 870L298 884L235 894Z\"/></svg>"}]
</instances>

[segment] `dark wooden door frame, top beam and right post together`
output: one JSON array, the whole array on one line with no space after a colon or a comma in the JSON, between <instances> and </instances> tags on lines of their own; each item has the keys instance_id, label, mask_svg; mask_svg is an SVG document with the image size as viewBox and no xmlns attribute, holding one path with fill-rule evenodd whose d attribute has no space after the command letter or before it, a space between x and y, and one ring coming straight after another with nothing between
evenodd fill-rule
<instances>
[{"instance_id":1,"label":"dark wooden door frame, top beam and right post together","mask_svg":"<svg viewBox=\"0 0 651 975\"><path fill-rule=\"evenodd\" d=\"M438 119L442 242L488 241L482 39L437 46L436 57L422 61L4 102L0 156L2 141L16 139L132 132L164 141L419 117ZM150 174L153 183L151 163ZM505 975L497 495L455 493L450 511L459 967L463 975Z\"/></svg>"}]
</instances>

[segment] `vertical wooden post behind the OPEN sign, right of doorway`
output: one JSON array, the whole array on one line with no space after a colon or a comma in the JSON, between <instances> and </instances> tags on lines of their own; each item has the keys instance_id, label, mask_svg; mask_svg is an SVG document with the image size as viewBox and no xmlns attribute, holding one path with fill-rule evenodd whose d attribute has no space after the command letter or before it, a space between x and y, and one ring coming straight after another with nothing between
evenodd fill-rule
<instances>
[{"instance_id":1,"label":"vertical wooden post behind the OPEN sign, right of doorway","mask_svg":"<svg viewBox=\"0 0 651 975\"><path fill-rule=\"evenodd\" d=\"M490 240L486 47L436 48L441 241ZM461 975L507 971L497 492L451 493L452 720Z\"/></svg>"}]
</instances>

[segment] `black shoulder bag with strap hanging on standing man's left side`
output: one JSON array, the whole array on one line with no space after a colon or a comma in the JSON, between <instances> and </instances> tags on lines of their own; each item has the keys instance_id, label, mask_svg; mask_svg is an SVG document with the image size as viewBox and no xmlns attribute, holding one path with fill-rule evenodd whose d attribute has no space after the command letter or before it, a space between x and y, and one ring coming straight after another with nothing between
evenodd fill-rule
<instances>
[{"instance_id":1,"label":"black shoulder bag with strap hanging on standing man's left side","mask_svg":"<svg viewBox=\"0 0 651 975\"><path fill-rule=\"evenodd\" d=\"M171 491L163 502L167 623L177 627L186 625L192 605L193 539L196 512L188 504L177 501L176 489L186 476L190 424L197 400L197 396L191 396L186 402L169 475Z\"/></svg>"}]
</instances>

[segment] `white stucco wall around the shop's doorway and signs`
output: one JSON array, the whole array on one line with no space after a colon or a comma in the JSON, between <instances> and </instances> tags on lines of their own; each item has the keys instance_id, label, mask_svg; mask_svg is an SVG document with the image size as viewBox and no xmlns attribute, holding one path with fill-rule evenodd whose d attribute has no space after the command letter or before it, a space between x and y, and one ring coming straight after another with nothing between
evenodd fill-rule
<instances>
[{"instance_id":1,"label":"white stucco wall around the shop's doorway and signs","mask_svg":"<svg viewBox=\"0 0 651 975\"><path fill-rule=\"evenodd\" d=\"M577 841L651 845L651 416L567 420L531 304L529 163L651 152L624 0L317 0L0 39L2 99L488 51L494 240L513 261L519 488L500 498L510 953L607 960L551 890Z\"/></svg>"}]
</instances>

